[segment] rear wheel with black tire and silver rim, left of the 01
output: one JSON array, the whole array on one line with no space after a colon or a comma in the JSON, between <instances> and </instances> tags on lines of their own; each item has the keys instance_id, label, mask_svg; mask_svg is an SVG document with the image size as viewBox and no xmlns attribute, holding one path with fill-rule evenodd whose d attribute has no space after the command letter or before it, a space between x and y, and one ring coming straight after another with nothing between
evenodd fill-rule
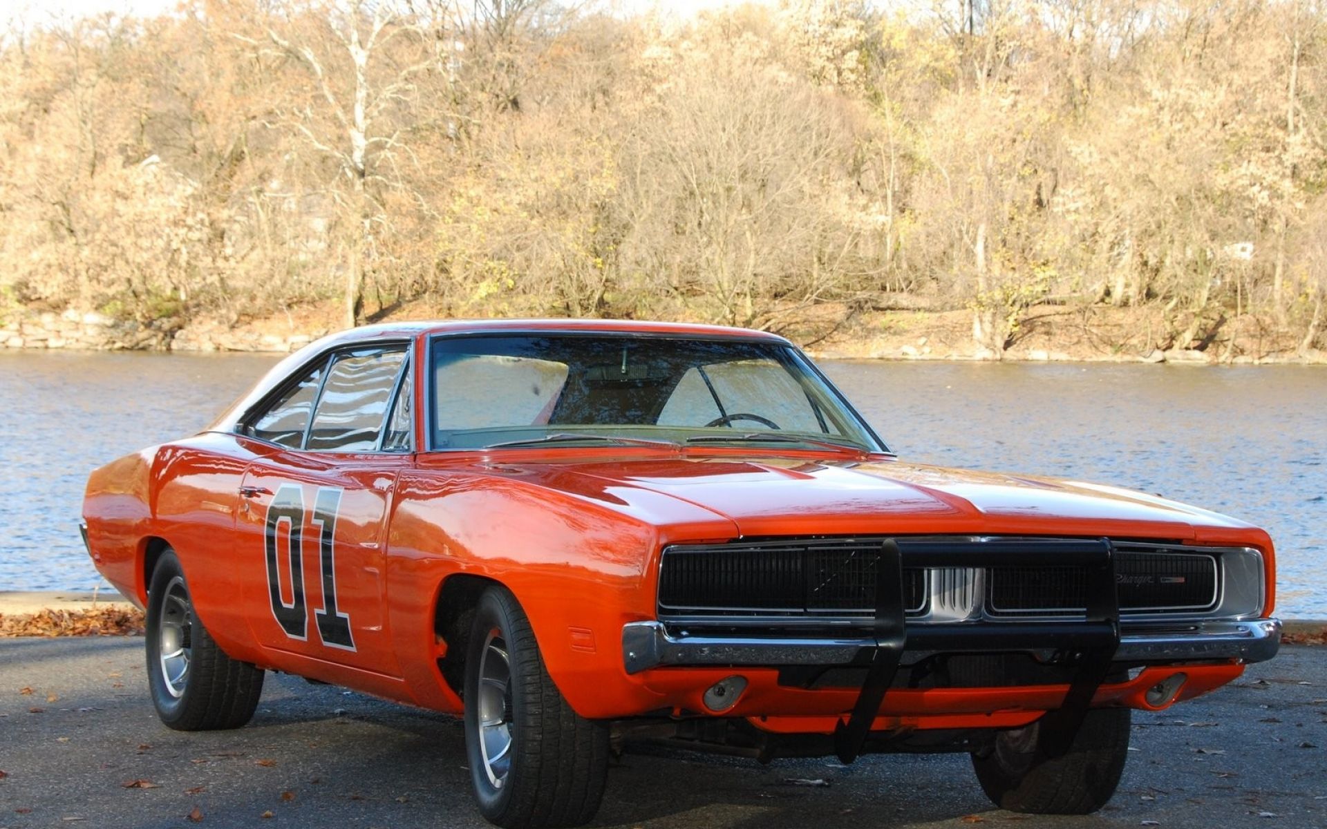
<instances>
[{"instance_id":1,"label":"rear wheel with black tire and silver rim, left of the 01","mask_svg":"<svg viewBox=\"0 0 1327 829\"><path fill-rule=\"evenodd\" d=\"M263 669L231 659L207 633L194 614L184 572L171 549L153 570L146 634L147 687L166 726L212 731L249 722L263 694Z\"/></svg>"}]
</instances>

